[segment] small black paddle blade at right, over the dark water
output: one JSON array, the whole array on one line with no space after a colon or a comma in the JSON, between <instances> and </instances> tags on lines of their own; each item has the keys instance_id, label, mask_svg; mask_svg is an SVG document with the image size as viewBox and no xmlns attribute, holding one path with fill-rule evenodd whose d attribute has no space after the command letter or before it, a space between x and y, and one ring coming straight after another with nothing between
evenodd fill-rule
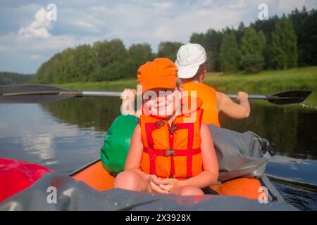
<instances>
[{"instance_id":1,"label":"small black paddle blade at right, over the dark water","mask_svg":"<svg viewBox=\"0 0 317 225\"><path fill-rule=\"evenodd\" d=\"M278 94L267 96L267 100L277 105L289 105L302 103L311 94L309 90L285 91Z\"/></svg>"}]
</instances>

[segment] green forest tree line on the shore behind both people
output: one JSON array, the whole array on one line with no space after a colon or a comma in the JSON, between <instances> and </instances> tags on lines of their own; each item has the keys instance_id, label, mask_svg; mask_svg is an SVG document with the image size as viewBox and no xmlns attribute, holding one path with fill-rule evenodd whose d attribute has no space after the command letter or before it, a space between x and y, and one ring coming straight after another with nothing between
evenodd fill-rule
<instances>
[{"instance_id":1,"label":"green forest tree line on the shore behind both people","mask_svg":"<svg viewBox=\"0 0 317 225\"><path fill-rule=\"evenodd\" d=\"M249 27L193 33L191 43L204 46L209 70L223 72L286 70L317 65L317 11L295 9L289 15L256 20ZM137 68L156 57L175 60L182 43L162 41L154 53L147 43L125 48L123 41L97 41L68 48L43 63L35 75L42 84L99 82L136 77Z\"/></svg>"}]
</instances>

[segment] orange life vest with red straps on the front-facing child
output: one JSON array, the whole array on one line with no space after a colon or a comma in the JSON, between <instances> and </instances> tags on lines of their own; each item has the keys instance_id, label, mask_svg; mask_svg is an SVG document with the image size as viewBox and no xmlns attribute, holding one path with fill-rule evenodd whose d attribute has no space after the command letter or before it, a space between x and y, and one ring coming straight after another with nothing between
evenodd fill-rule
<instances>
[{"instance_id":1,"label":"orange life vest with red straps on the front-facing child","mask_svg":"<svg viewBox=\"0 0 317 225\"><path fill-rule=\"evenodd\" d=\"M187 98L188 99L188 98ZM189 101L187 101L188 104ZM202 171L200 127L203 110L197 107L182 110L171 126L153 115L141 115L141 139L144 146L141 169L162 178L187 179ZM184 107L183 107L184 108ZM193 118L188 122L187 120Z\"/></svg>"}]
</instances>

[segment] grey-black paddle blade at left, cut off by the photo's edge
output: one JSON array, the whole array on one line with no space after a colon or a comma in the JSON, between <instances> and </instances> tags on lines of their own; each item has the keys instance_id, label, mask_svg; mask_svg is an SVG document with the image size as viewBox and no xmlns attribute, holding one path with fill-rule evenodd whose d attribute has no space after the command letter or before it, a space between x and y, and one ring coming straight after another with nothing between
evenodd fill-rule
<instances>
[{"instance_id":1,"label":"grey-black paddle blade at left, cut off by the photo's edge","mask_svg":"<svg viewBox=\"0 0 317 225\"><path fill-rule=\"evenodd\" d=\"M60 96L63 91L68 90L42 84L0 86L0 103L45 103L73 97Z\"/></svg>"}]
</instances>

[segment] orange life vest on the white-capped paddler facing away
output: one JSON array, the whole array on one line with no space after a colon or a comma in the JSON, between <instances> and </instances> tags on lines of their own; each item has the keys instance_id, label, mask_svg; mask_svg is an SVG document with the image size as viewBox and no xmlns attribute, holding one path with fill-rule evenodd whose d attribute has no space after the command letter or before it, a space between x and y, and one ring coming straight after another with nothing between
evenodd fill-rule
<instances>
[{"instance_id":1,"label":"orange life vest on the white-capped paddler facing away","mask_svg":"<svg viewBox=\"0 0 317 225\"><path fill-rule=\"evenodd\" d=\"M217 92L211 86L198 82L186 82L182 84L184 91L197 91L197 97L201 98L203 104L201 108L204 110L202 121L205 124L215 124L220 127L218 119Z\"/></svg>"}]
</instances>

